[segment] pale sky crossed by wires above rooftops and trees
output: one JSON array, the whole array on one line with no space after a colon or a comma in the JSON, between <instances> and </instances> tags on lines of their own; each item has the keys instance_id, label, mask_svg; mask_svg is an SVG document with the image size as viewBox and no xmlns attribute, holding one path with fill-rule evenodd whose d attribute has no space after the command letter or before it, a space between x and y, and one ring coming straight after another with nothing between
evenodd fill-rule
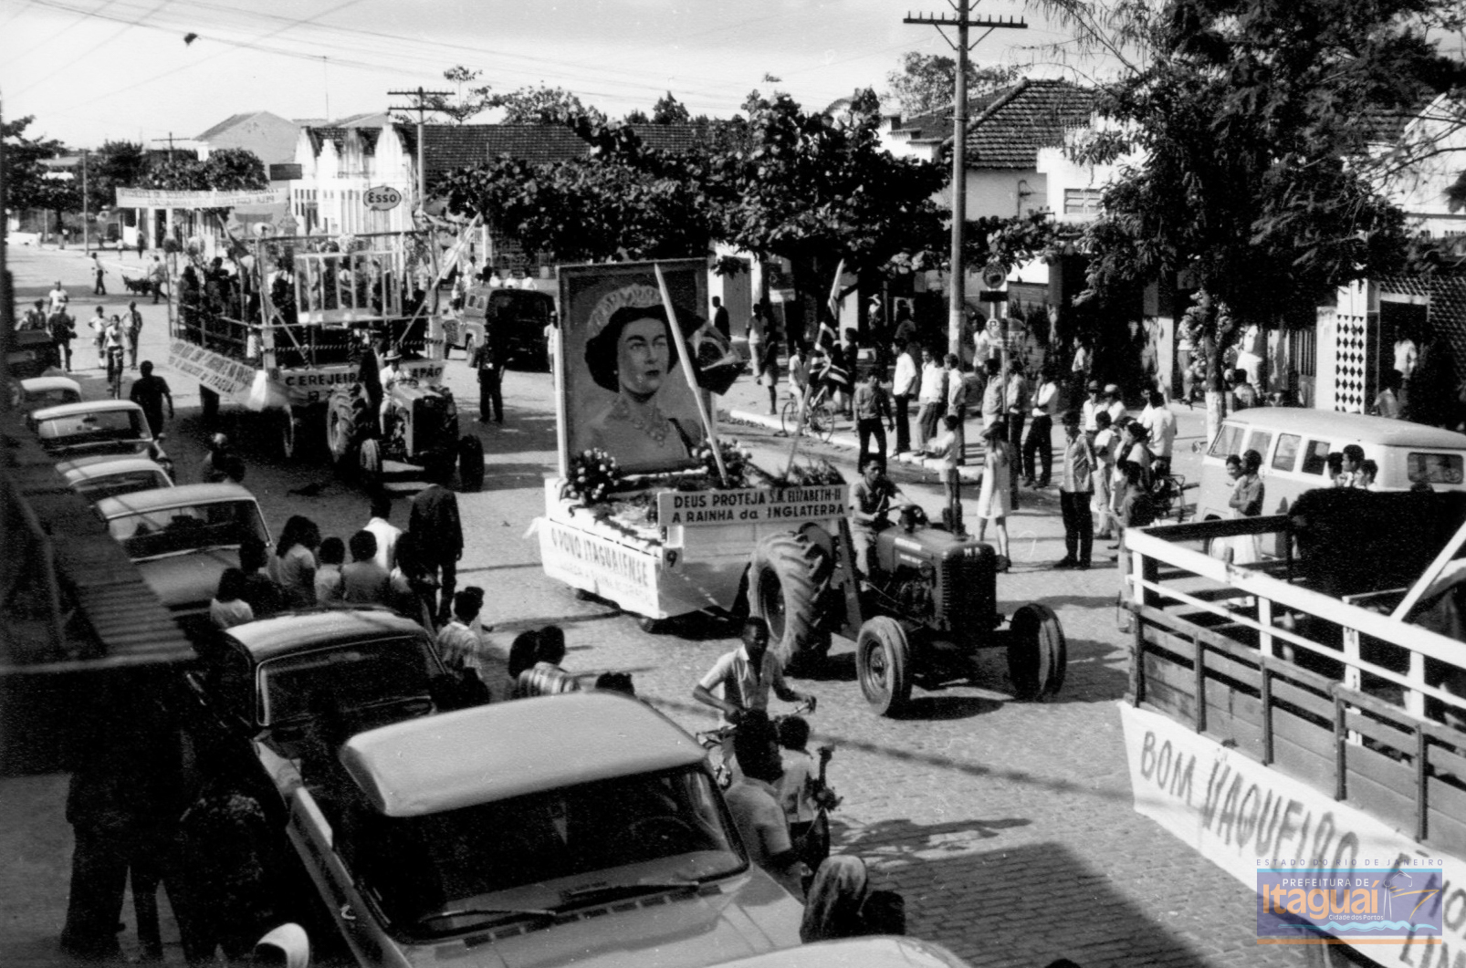
<instances>
[{"instance_id":1,"label":"pale sky crossed by wires above rooftops and trees","mask_svg":"<svg viewBox=\"0 0 1466 968\"><path fill-rule=\"evenodd\" d=\"M387 91L452 89L481 70L496 91L550 85L613 117L670 91L693 114L729 117L754 88L825 107L858 86L883 92L906 51L950 56L912 15L947 0L0 0L0 98L28 136L70 146L164 145L230 114L325 119L381 111ZM1063 34L1017 0L972 16L1028 21L973 51L985 64L1058 76L1042 50ZM192 42L185 35L196 34ZM765 83L774 75L778 83ZM497 120L493 113L475 123Z\"/></svg>"}]
</instances>

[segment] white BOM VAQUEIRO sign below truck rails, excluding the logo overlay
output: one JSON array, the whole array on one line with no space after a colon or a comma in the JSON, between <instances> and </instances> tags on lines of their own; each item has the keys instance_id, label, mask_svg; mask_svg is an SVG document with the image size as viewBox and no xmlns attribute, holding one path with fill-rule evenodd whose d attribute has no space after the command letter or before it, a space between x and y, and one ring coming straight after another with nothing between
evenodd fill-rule
<instances>
[{"instance_id":1,"label":"white BOM VAQUEIRO sign below truck rails, excluding the logo overlay","mask_svg":"<svg viewBox=\"0 0 1466 968\"><path fill-rule=\"evenodd\" d=\"M1466 861L1460 857L1423 846L1165 716L1120 703L1120 721L1136 813L1248 887L1256 890L1262 865L1314 873L1400 870L1435 885L1422 912L1444 923L1444 952L1466 950ZM1338 937L1358 942L1359 950L1385 965L1448 964L1444 952L1435 956L1415 945L1369 943L1350 931Z\"/></svg>"}]
</instances>

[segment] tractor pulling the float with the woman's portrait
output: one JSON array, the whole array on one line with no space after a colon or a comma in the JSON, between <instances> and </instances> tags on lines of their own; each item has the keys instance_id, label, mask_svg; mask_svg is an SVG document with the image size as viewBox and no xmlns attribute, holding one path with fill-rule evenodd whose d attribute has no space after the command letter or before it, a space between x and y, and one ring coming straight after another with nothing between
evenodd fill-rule
<instances>
[{"instance_id":1,"label":"tractor pulling the float with the woman's portrait","mask_svg":"<svg viewBox=\"0 0 1466 968\"><path fill-rule=\"evenodd\" d=\"M978 649L1006 647L1017 699L1063 688L1067 644L1047 605L1020 606L1004 628L997 611L997 555L991 545L927 521L921 508L878 530L871 574L858 580L849 524L767 535L755 548L746 596L770 625L786 665L817 665L831 634L855 640L856 678L875 712L899 716L912 685L970 680Z\"/></svg>"}]
</instances>

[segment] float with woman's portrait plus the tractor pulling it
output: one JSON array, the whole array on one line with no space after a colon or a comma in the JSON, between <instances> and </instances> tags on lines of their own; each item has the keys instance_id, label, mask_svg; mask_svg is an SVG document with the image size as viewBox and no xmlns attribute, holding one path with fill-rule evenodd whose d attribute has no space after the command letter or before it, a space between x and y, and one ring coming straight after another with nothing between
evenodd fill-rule
<instances>
[{"instance_id":1,"label":"float with woman's portrait plus the tractor pulling it","mask_svg":"<svg viewBox=\"0 0 1466 968\"><path fill-rule=\"evenodd\" d=\"M710 373L740 366L698 313L705 264L664 265L560 267L561 467L537 521L545 574L648 630L705 609L764 617L792 669L822 660L833 636L852 640L883 715L907 709L913 685L970 680L985 647L1007 649L1017 697L1056 694L1058 618L1042 603L998 611L990 545L912 508L878 530L858 576L839 472L768 474L717 441L702 394L732 382Z\"/></svg>"}]
</instances>

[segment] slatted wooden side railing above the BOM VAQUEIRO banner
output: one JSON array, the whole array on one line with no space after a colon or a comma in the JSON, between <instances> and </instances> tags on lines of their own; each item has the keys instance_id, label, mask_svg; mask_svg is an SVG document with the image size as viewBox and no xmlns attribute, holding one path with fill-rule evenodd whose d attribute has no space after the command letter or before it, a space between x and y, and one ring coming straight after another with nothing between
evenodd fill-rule
<instances>
[{"instance_id":1,"label":"slatted wooden side railing above the BOM VAQUEIRO banner","mask_svg":"<svg viewBox=\"0 0 1466 968\"><path fill-rule=\"evenodd\" d=\"M1466 845L1466 644L1292 583L1293 561L1231 565L1204 542L1281 535L1246 518L1126 535L1130 701L1451 854Z\"/></svg>"}]
</instances>

